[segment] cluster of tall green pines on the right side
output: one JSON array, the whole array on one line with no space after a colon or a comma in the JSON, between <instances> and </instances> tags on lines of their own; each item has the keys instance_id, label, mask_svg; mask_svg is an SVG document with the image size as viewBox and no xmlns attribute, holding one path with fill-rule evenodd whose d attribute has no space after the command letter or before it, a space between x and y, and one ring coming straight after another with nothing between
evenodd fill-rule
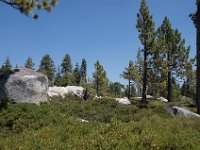
<instances>
[{"instance_id":1,"label":"cluster of tall green pines on the right side","mask_svg":"<svg viewBox=\"0 0 200 150\"><path fill-rule=\"evenodd\" d=\"M143 103L147 94L166 97L169 102L177 99L177 94L195 99L195 59L189 58L190 46L185 46L179 30L172 27L167 17L156 29L145 0L141 1L137 18L143 48L138 50L137 61L130 61L122 73L129 81L129 90L135 85Z\"/></svg>"}]
</instances>

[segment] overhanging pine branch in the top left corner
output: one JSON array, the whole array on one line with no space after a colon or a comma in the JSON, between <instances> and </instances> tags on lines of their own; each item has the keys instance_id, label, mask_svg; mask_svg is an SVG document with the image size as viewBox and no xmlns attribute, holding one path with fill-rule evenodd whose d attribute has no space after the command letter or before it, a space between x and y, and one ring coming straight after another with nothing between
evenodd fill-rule
<instances>
[{"instance_id":1,"label":"overhanging pine branch in the top left corner","mask_svg":"<svg viewBox=\"0 0 200 150\"><path fill-rule=\"evenodd\" d=\"M17 9L22 14L38 19L38 15L33 13L33 9L38 10L45 9L50 12L52 7L57 4L57 0L0 0L0 2L11 6L14 9Z\"/></svg>"}]
</instances>

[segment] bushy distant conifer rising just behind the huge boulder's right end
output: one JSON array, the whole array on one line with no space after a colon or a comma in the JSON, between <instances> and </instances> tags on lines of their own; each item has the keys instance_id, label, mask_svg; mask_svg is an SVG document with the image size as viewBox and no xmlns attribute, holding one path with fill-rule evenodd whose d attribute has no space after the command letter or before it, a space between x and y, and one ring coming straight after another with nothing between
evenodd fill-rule
<instances>
[{"instance_id":1,"label":"bushy distant conifer rising just behind the huge boulder's right end","mask_svg":"<svg viewBox=\"0 0 200 150\"><path fill-rule=\"evenodd\" d=\"M53 84L56 69L50 55L46 54L42 58L38 71L47 76L50 85Z\"/></svg>"}]
</instances>

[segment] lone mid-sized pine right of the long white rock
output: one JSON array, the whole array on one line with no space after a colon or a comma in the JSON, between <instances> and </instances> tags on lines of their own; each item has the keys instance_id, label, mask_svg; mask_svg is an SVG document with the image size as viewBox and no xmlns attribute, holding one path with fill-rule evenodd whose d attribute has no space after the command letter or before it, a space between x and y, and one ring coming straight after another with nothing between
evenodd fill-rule
<instances>
[{"instance_id":1,"label":"lone mid-sized pine right of the long white rock","mask_svg":"<svg viewBox=\"0 0 200 150\"><path fill-rule=\"evenodd\" d=\"M94 85L96 89L97 96L102 96L108 87L108 79L106 77L106 71L103 66L97 62L94 65L95 72L93 73Z\"/></svg>"}]
</instances>

